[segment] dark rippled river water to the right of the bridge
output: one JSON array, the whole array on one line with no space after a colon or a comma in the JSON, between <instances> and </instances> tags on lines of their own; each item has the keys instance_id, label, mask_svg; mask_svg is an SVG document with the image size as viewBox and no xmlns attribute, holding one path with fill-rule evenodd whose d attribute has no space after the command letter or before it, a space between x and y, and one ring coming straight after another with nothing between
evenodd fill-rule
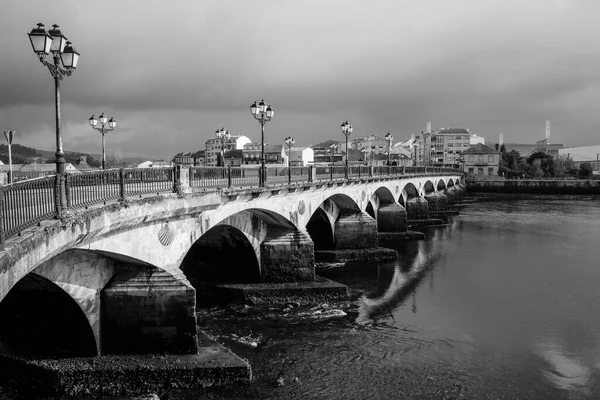
<instances>
[{"instance_id":1,"label":"dark rippled river water to the right of the bridge","mask_svg":"<svg viewBox=\"0 0 600 400\"><path fill-rule=\"evenodd\" d=\"M600 199L479 201L426 233L322 271L347 304L200 318L253 365L217 398L600 398Z\"/></svg>"}]
</instances>

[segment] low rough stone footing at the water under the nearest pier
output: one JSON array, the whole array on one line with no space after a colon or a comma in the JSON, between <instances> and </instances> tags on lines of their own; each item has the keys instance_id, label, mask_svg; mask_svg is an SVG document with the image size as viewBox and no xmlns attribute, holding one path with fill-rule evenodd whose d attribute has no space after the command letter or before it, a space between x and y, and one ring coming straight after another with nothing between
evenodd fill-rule
<instances>
[{"instance_id":1,"label":"low rough stone footing at the water under the nearest pier","mask_svg":"<svg viewBox=\"0 0 600 400\"><path fill-rule=\"evenodd\" d=\"M197 354L38 358L0 354L3 380L28 398L38 396L135 396L169 389L202 390L250 382L250 365L199 332ZM45 397L44 397L45 398Z\"/></svg>"}]
</instances>

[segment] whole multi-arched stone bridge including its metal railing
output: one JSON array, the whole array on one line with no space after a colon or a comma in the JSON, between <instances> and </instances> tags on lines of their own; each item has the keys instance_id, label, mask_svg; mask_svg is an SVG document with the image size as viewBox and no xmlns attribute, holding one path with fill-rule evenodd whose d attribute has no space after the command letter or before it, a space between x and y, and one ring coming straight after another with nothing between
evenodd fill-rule
<instances>
[{"instance_id":1,"label":"whole multi-arched stone bridge including its metal railing","mask_svg":"<svg viewBox=\"0 0 600 400\"><path fill-rule=\"evenodd\" d=\"M277 171L259 188L231 168L108 170L67 177L64 194L54 176L0 188L0 336L23 339L35 304L64 302L47 312L79 354L194 352L198 283L312 282L315 249L377 246L464 192L454 170L338 173Z\"/></svg>"}]
</instances>

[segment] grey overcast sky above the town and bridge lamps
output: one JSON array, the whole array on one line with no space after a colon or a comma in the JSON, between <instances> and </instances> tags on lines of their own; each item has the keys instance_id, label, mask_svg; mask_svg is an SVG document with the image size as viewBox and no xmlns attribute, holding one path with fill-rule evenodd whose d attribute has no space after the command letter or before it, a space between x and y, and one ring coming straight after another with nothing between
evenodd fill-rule
<instances>
[{"instance_id":1,"label":"grey overcast sky above the town and bridge lamps","mask_svg":"<svg viewBox=\"0 0 600 400\"><path fill-rule=\"evenodd\" d=\"M54 150L54 85L27 33L59 24L81 53L62 82L66 150L172 157L217 128L268 143L396 140L464 127L496 143L599 144L597 0L1 0L0 130Z\"/></svg>"}]
</instances>

